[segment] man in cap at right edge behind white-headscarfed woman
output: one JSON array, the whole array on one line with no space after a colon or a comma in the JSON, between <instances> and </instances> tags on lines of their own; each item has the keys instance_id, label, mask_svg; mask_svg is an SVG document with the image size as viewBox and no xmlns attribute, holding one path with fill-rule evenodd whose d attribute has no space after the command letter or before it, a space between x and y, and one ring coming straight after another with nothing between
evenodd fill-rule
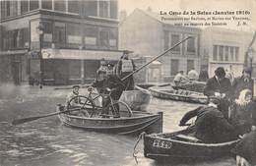
<instances>
[{"instance_id":1,"label":"man in cap at right edge behind white-headscarfed woman","mask_svg":"<svg viewBox=\"0 0 256 166\"><path fill-rule=\"evenodd\" d=\"M242 76L239 78L235 78L233 82L234 98L238 98L240 91L246 88L252 91L252 96L253 96L254 82L251 79L250 68L245 68L242 71Z\"/></svg>"}]
</instances>

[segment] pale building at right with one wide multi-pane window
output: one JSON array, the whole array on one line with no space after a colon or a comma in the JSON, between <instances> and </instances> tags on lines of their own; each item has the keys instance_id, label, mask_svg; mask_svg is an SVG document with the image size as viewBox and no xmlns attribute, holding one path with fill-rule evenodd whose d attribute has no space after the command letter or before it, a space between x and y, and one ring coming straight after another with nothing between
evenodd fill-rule
<instances>
[{"instance_id":1,"label":"pale building at right with one wide multi-pane window","mask_svg":"<svg viewBox=\"0 0 256 166\"><path fill-rule=\"evenodd\" d=\"M231 71L235 77L242 74L245 52L252 41L253 33L228 28L205 28L202 32L202 68L208 69L210 77L218 67ZM255 50L255 44L253 45ZM252 67L255 68L255 58ZM253 77L256 77L256 69Z\"/></svg>"}]
</instances>

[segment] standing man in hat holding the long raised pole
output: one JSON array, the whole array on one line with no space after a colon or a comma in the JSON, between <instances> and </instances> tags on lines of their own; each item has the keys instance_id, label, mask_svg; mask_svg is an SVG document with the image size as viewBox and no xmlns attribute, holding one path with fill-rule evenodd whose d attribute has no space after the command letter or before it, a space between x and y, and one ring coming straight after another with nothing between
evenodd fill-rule
<instances>
[{"instance_id":1,"label":"standing man in hat holding the long raised pole","mask_svg":"<svg viewBox=\"0 0 256 166\"><path fill-rule=\"evenodd\" d=\"M118 78L123 79L126 76L130 75L135 71L135 64L132 59L129 59L128 55L132 53L131 51L124 50L123 56L116 64L116 75ZM130 76L126 80L123 81L125 84L125 90L133 90L134 89L134 79L133 76Z\"/></svg>"}]
</instances>

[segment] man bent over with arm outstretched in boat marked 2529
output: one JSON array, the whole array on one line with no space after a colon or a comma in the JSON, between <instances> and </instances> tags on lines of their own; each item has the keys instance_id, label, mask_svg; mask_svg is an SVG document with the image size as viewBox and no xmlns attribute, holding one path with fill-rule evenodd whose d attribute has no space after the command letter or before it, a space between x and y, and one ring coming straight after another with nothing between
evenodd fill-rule
<instances>
[{"instance_id":1,"label":"man bent over with arm outstretched in boat marked 2529","mask_svg":"<svg viewBox=\"0 0 256 166\"><path fill-rule=\"evenodd\" d=\"M195 137L207 143L224 142L237 138L237 134L219 111L220 99L211 97L208 106L200 106L187 112L180 120L179 126L184 126L187 121L197 117L195 121Z\"/></svg>"}]
</instances>

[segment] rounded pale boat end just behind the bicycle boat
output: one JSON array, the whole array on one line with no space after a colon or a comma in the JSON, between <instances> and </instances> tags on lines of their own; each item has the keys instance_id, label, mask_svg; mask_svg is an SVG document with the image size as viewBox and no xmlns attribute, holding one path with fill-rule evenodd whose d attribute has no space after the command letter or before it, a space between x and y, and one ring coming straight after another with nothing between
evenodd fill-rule
<instances>
[{"instance_id":1,"label":"rounded pale boat end just behind the bicycle boat","mask_svg":"<svg viewBox=\"0 0 256 166\"><path fill-rule=\"evenodd\" d=\"M151 101L151 93L136 85L134 90L123 91L119 100L128 104L132 110L146 111Z\"/></svg>"}]
</instances>

